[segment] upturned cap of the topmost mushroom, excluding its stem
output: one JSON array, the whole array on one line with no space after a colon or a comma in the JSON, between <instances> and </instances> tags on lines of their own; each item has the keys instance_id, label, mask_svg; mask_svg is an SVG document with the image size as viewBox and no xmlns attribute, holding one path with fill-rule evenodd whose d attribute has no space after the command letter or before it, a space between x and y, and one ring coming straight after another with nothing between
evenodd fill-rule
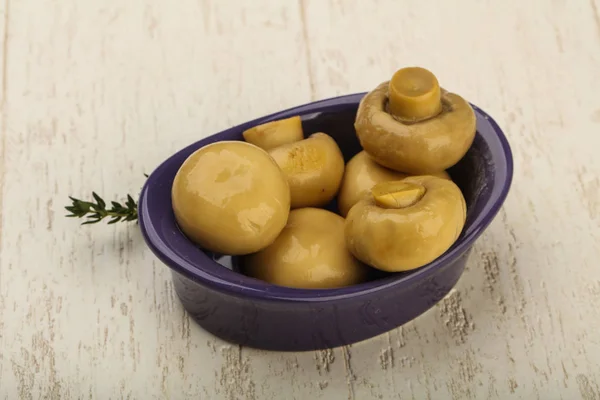
<instances>
[{"instance_id":1,"label":"upturned cap of the topmost mushroom, excluding its stem","mask_svg":"<svg viewBox=\"0 0 600 400\"><path fill-rule=\"evenodd\" d=\"M441 89L442 111L420 122L404 123L387 111L389 82L363 97L354 127L363 149L384 167L409 174L430 174L455 165L475 138L471 105Z\"/></svg>"}]
</instances>

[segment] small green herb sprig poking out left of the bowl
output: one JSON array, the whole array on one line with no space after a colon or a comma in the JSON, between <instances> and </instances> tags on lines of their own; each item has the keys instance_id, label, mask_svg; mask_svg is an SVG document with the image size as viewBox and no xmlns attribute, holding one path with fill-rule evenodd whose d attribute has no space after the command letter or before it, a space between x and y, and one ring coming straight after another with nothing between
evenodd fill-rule
<instances>
[{"instance_id":1,"label":"small green herb sprig poking out left of the bowl","mask_svg":"<svg viewBox=\"0 0 600 400\"><path fill-rule=\"evenodd\" d=\"M111 201L111 207L108 209L106 208L106 202L96 192L92 192L92 197L94 198L93 201L85 201L69 196L73 203L65 207L71 213L67 217L87 218L86 221L82 222L82 225L95 224L105 218L110 218L109 224L137 220L137 203L130 195L127 195L125 205L117 201Z\"/></svg>"}]
</instances>

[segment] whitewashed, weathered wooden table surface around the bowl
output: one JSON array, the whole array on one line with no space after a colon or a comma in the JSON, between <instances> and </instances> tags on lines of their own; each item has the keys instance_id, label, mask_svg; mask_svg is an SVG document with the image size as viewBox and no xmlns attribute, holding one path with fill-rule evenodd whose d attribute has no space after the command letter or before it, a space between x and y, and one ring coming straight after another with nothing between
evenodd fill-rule
<instances>
[{"instance_id":1,"label":"whitewashed, weathered wooden table surface around the bowl","mask_svg":"<svg viewBox=\"0 0 600 400\"><path fill-rule=\"evenodd\" d=\"M599 399L600 1L2 0L0 398ZM451 294L328 351L202 331L136 224L173 151L420 65L505 129L515 179Z\"/></svg>"}]
</instances>

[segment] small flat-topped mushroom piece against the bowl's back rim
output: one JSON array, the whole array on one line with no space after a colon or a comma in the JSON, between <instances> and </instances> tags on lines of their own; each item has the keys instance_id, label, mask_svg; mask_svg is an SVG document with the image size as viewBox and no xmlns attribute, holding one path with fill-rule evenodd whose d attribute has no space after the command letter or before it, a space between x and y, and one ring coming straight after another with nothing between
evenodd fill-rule
<instances>
[{"instance_id":1,"label":"small flat-topped mushroom piece against the bowl's back rim","mask_svg":"<svg viewBox=\"0 0 600 400\"><path fill-rule=\"evenodd\" d=\"M246 129L242 133L242 136L246 142L252 143L264 150L270 150L304 139L304 132L300 117L294 116L265 122L264 124Z\"/></svg>"}]
</instances>

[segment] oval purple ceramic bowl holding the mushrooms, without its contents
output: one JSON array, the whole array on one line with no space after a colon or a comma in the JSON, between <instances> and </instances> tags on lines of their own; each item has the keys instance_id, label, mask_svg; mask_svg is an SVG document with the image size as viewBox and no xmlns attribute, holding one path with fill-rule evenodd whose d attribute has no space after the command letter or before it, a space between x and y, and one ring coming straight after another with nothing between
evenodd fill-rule
<instances>
[{"instance_id":1,"label":"oval purple ceramic bowl holding the mushrooms, without its contents","mask_svg":"<svg viewBox=\"0 0 600 400\"><path fill-rule=\"evenodd\" d=\"M235 344L305 351L362 341L394 329L440 301L460 278L475 240L498 213L512 181L512 155L498 125L473 106L477 135L450 175L467 201L458 241L432 263L408 273L379 274L339 289L305 290L271 285L236 272L236 259L203 251L179 230L171 208L177 170L195 150L222 140L243 140L252 126L300 115L306 136L322 131L346 161L361 151L353 123L365 93L317 101L227 129L163 162L139 199L144 239L173 274L183 307L208 332ZM335 211L335 201L328 207Z\"/></svg>"}]
</instances>

